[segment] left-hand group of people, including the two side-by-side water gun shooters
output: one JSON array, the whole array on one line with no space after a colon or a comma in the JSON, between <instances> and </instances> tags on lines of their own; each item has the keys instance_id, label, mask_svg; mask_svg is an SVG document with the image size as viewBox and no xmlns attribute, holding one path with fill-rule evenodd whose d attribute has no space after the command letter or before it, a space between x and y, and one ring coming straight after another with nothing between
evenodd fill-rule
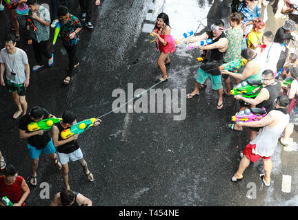
<instances>
[{"instance_id":1,"label":"left-hand group of people, including the two side-by-side water gun shooters","mask_svg":"<svg viewBox=\"0 0 298 220\"><path fill-rule=\"evenodd\" d=\"M86 21L86 28L93 28L91 0L80 0L81 21ZM95 1L99 5L100 0ZM79 162L83 168L83 173L88 181L94 181L94 177L88 169L88 164L83 159L83 153L77 142L78 135L63 140L60 133L65 129L70 129L77 124L76 116L72 111L65 111L61 116L62 120L52 125L52 137L50 131L37 130L29 131L28 124L40 122L47 118L56 118L46 109L35 106L28 113L26 102L26 89L30 84L30 72L37 72L44 65L54 65L54 54L48 48L50 41L50 27L55 28L60 25L61 41L66 52L68 52L69 64L66 78L62 83L70 83L72 72L79 65L77 60L77 45L80 40L81 22L77 17L68 11L67 0L51 1L52 19L47 4L39 4L37 0L19 0L13 5L7 1L0 1L0 11L6 6L12 18L11 31L5 39L5 47L0 52L0 80L1 85L7 87L12 94L12 99L17 105L17 111L12 115L14 120L19 119L19 137L28 140L26 144L31 159L31 172L29 184L37 186L37 168L41 153L48 155L58 170L62 170L64 189L57 193L50 206L92 206L92 201L78 192L70 190L68 181L68 163ZM52 24L51 24L52 21ZM28 44L32 44L35 65L30 69L28 56L24 50L17 47L20 41L19 28L26 30L25 38ZM46 62L44 61L46 58ZM96 120L97 126L101 121ZM4 175L0 177L0 199L6 197L13 206L25 206L25 200L30 194L28 184L19 176L17 169L12 164L6 164L5 157L0 151L0 168ZM6 206L6 200L0 201L0 206Z\"/></svg>"}]
</instances>

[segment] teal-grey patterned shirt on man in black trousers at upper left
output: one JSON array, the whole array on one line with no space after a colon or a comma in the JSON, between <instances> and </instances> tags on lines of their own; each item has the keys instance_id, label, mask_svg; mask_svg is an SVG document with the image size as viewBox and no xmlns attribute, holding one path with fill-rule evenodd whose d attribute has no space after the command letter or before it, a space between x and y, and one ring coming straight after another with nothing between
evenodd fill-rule
<instances>
[{"instance_id":1,"label":"teal-grey patterned shirt on man in black trousers at upper left","mask_svg":"<svg viewBox=\"0 0 298 220\"><path fill-rule=\"evenodd\" d=\"M29 18L31 17L32 12L29 10ZM37 12L37 16L40 19L50 23L50 12L45 7L39 5L39 10ZM36 31L30 27L30 37L40 43L41 41L48 41L50 39L50 26L43 25L39 23L37 20L32 19L35 27L37 28Z\"/></svg>"}]
</instances>

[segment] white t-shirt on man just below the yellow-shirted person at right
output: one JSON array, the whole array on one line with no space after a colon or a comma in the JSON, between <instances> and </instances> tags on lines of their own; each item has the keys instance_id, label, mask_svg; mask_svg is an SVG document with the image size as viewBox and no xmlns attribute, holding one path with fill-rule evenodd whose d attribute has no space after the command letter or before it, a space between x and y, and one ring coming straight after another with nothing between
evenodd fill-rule
<instances>
[{"instance_id":1,"label":"white t-shirt on man just below the yellow-shirted person at right","mask_svg":"<svg viewBox=\"0 0 298 220\"><path fill-rule=\"evenodd\" d=\"M271 69L272 72L277 71L277 62L281 53L281 45L279 43L272 43L272 45L266 46L261 52L261 73L266 69Z\"/></svg>"}]
</instances>

